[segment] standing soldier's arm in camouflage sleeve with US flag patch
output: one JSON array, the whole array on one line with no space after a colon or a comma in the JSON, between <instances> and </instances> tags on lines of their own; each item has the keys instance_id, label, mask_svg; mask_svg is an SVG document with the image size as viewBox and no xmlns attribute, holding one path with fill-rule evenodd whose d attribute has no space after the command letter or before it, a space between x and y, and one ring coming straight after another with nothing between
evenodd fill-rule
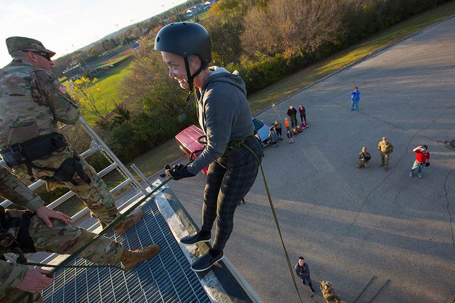
<instances>
[{"instance_id":1,"label":"standing soldier's arm in camouflage sleeve with US flag patch","mask_svg":"<svg viewBox=\"0 0 455 303\"><path fill-rule=\"evenodd\" d=\"M80 117L79 108L66 92L66 87L48 71L37 71L35 75L34 85L30 83L32 90L36 89L36 93L49 102L54 119L69 125L76 124Z\"/></svg>"}]
</instances>

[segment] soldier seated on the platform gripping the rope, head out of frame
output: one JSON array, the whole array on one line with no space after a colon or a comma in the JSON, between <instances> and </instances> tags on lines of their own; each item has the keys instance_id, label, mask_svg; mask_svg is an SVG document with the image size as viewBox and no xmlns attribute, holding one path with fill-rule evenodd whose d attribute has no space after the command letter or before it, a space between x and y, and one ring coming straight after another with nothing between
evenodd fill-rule
<instances>
[{"instance_id":1,"label":"soldier seated on the platform gripping the rope, head out of frame","mask_svg":"<svg viewBox=\"0 0 455 303\"><path fill-rule=\"evenodd\" d=\"M31 237L36 251L70 255L95 236L94 233L69 223L67 220L71 220L70 217L45 207L39 196L3 167L0 167L0 195L15 205L35 212L29 221L28 236ZM21 218L24 213L0 208L3 226L7 226L8 220ZM0 257L17 245L6 233L21 242L18 229L17 226L7 230L0 227ZM123 248L121 243L103 236L85 248L79 256L100 264L120 261L125 269L130 270L139 262L152 259L158 252L159 246L156 244L131 251ZM33 302L42 302L39 291L54 281L53 276L45 276L49 273L50 271L41 268L28 268L26 265L0 260L0 302L12 302L24 291L34 294ZM29 302L29 298L22 302Z\"/></svg>"}]
</instances>

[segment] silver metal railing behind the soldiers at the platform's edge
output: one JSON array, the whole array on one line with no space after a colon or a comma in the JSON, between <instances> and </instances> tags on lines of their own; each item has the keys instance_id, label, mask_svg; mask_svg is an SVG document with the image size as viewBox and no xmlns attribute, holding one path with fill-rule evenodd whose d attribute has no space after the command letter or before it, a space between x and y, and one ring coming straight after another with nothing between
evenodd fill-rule
<instances>
[{"instance_id":1,"label":"silver metal railing behind the soldiers at the platform's edge","mask_svg":"<svg viewBox=\"0 0 455 303\"><path fill-rule=\"evenodd\" d=\"M95 130L93 130L93 128L90 127L90 125L88 125L88 123L82 117L79 118L78 124L80 124L84 128L84 130L92 137L92 144L90 144L90 148L85 150L80 155L83 158L86 158L86 157L96 153L97 151L100 151L109 160L109 162L111 164L109 166L107 166L105 169L103 169L102 171L100 171L98 173L98 175L100 177L102 177L102 176L106 175L107 173L111 172L112 170L117 169L119 171L119 173L125 178L125 181L123 181L122 183L120 183L119 185L117 185L116 187L111 189L110 192L112 194L114 194L115 192L119 191L120 189L122 189L123 187L125 187L128 184L130 184L132 187L134 187L136 189L136 191L138 191L138 193L136 195L134 195L132 198L130 198L128 201L126 201L122 205L118 206L118 209L119 210L123 209L131 201L139 198L139 196L141 196L141 195L147 194L148 192L146 190L146 187L144 187L134 177L134 175L126 168L126 166L117 158L117 156L113 153L113 151L109 148L109 146L107 146L107 144L100 138L100 136L95 132ZM64 126L60 127L59 132L62 133L71 127L73 127L73 126L64 125ZM0 161L0 164L6 166L4 160ZM138 167L136 167L134 164L131 165L131 167L146 182L146 184L148 184L150 187L153 187L153 186L151 186L152 184L147 180L146 176L141 172L141 170ZM38 180L38 181L34 182L33 184L31 184L28 188L30 188L31 190L36 189L39 186L43 185L44 182L45 181L43 181L43 180ZM75 193L73 191L69 191L66 194L59 197L58 199L56 199L55 201L53 201L51 204L49 204L48 207L53 209L53 208L59 206L60 204L62 204L65 200L72 197L74 194ZM12 204L11 201L5 200L0 205L3 207L7 207L11 204ZM84 208L79 213L75 214L72 218L73 218L73 220L76 220L77 218L83 216L87 212L89 212L89 210L87 208Z\"/></svg>"}]
</instances>

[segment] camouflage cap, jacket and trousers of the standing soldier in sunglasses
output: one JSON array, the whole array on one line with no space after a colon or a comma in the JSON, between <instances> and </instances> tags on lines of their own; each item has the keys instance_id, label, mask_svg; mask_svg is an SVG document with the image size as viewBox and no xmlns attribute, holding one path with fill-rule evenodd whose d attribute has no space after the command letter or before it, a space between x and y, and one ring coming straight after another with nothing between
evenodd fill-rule
<instances>
[{"instance_id":1,"label":"camouflage cap, jacket and trousers of the standing soldier in sunglasses","mask_svg":"<svg viewBox=\"0 0 455 303\"><path fill-rule=\"evenodd\" d=\"M30 48L45 52L51 57L55 54L45 49L41 42L30 38L8 38L7 46L10 54ZM50 71L21 58L13 59L0 69L0 149L56 133L58 122L74 125L78 120L79 109L76 103ZM65 160L73 158L74 153L68 144L63 150L55 150L50 157L32 163L39 167L58 169ZM114 197L95 169L83 158L80 158L80 162L84 178L88 177L91 183L87 184L75 173L73 179L78 183L77 186L69 181L47 181L48 190L58 186L71 189L98 220L109 224L118 216ZM22 164L14 171L27 173L27 167ZM37 179L52 177L54 174L49 170L32 169L32 175Z\"/></svg>"}]
</instances>

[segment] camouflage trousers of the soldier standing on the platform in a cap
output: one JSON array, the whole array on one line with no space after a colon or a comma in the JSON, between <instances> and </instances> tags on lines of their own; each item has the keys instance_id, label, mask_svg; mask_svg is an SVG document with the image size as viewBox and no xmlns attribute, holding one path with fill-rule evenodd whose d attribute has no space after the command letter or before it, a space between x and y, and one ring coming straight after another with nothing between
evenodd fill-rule
<instances>
[{"instance_id":1,"label":"camouflage trousers of the soldier standing on the platform in a cap","mask_svg":"<svg viewBox=\"0 0 455 303\"><path fill-rule=\"evenodd\" d=\"M73 158L73 151L74 149L71 146L68 146L63 151L54 151L52 156L47 159L35 160L32 163L40 167L59 168L63 161ZM82 164L85 177L92 180L92 183L85 183L85 181L82 180L76 172L74 173L73 178L79 185L75 186L71 182L46 181L47 188L48 190L53 190L57 187L67 187L71 189L87 206L92 213L92 217L109 224L119 215L115 206L114 196L109 192L109 189L103 179L98 176L95 169L88 165L82 157L80 157L80 162ZM27 167L25 165L21 165L18 169L15 169L14 172L27 174ZM36 179L44 179L45 177L52 177L54 172L33 168L32 174Z\"/></svg>"}]
</instances>

